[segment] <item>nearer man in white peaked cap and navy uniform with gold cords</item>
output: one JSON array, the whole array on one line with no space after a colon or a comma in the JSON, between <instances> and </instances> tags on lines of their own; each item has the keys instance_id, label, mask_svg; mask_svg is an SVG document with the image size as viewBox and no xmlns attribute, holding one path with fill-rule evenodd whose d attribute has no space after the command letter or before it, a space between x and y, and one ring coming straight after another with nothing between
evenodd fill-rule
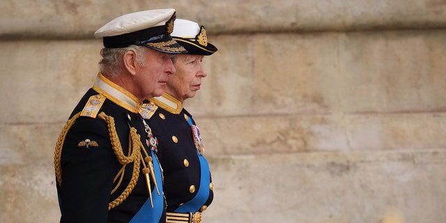
<instances>
[{"instance_id":1,"label":"nearer man in white peaked cap and navy uniform with gold cords","mask_svg":"<svg viewBox=\"0 0 446 223\"><path fill-rule=\"evenodd\" d=\"M176 72L175 10L122 15L103 38L100 73L75 107L54 153L61 222L165 222L156 140L139 114Z\"/></svg>"}]
</instances>

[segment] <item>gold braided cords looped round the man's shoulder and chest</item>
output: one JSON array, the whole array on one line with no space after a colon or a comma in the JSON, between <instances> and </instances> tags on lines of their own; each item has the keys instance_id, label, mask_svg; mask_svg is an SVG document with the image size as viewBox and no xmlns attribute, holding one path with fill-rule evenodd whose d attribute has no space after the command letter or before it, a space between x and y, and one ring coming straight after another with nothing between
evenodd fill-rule
<instances>
[{"instance_id":1,"label":"gold braided cords looped round the man's shoulder and chest","mask_svg":"<svg viewBox=\"0 0 446 223\"><path fill-rule=\"evenodd\" d=\"M70 130L71 126L73 125L73 123L75 123L76 119L79 118L79 115L80 112L75 114L75 116L72 116L72 118L70 118L70 120L67 121L56 143L56 151L54 152L54 169L56 171L56 178L57 182L59 183L59 186L62 185L61 154L62 154L63 141L65 141L68 130ZM127 199L128 195L132 192L134 185L137 184L139 176L139 167L140 167L139 162L141 162L141 148L144 150L144 147L142 147L140 136L139 134L137 134L137 130L135 128L130 128L132 153L128 156L125 156L123 153L123 149L121 147L121 142L119 141L118 138L118 134L116 133L114 118L112 116L107 116L104 112L101 112L98 115L98 117L107 123L112 149L114 151L114 154L118 158L118 162L123 166L125 166L126 164L133 163L132 178L130 179L130 182L127 185L127 187L125 187L125 190L116 199L114 199L114 201L109 203L108 209L110 210L121 204L125 199Z\"/></svg>"}]
</instances>

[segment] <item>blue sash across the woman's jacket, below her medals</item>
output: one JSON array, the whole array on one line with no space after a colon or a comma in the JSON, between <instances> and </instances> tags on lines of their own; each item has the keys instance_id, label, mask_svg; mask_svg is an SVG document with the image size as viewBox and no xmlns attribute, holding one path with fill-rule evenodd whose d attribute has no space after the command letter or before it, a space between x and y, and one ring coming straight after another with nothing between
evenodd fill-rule
<instances>
[{"instance_id":1,"label":"blue sash across the woman's jacket, below her medals","mask_svg":"<svg viewBox=\"0 0 446 223\"><path fill-rule=\"evenodd\" d=\"M188 116L187 123L192 125L192 118ZM176 213L196 212L201 206L208 201L209 198L209 184L210 171L208 161L197 152L200 161L200 185L197 194L190 201L187 201L182 206L176 208Z\"/></svg>"}]
</instances>

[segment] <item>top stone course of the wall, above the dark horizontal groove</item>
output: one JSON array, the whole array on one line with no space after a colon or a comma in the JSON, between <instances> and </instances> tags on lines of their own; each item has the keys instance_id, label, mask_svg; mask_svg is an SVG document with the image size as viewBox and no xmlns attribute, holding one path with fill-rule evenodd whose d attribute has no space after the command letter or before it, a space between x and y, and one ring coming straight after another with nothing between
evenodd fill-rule
<instances>
[{"instance_id":1,"label":"top stone course of the wall, above the dark horizontal groove","mask_svg":"<svg viewBox=\"0 0 446 223\"><path fill-rule=\"evenodd\" d=\"M102 24L125 13L176 8L178 17L214 33L346 31L446 26L441 0L379 1L1 1L0 36L92 38Z\"/></svg>"}]
</instances>

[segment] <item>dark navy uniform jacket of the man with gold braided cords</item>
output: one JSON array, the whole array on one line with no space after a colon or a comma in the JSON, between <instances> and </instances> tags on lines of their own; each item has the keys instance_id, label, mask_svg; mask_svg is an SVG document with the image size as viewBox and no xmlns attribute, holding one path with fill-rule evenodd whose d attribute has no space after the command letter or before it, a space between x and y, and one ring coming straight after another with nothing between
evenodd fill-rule
<instances>
[{"instance_id":1,"label":"dark navy uniform jacket of the man with gold braided cords","mask_svg":"<svg viewBox=\"0 0 446 223\"><path fill-rule=\"evenodd\" d=\"M56 172L59 163L61 168L61 178L58 178L57 183L61 222L165 222L161 169L156 155L145 143L147 134L139 109L137 98L102 75L98 75L93 88L86 92L75 107L70 118L79 112L83 113L68 130L59 157L56 148L54 162ZM129 185L134 163L125 166L121 183L112 193L120 181L119 171L123 165L112 150L107 122L97 115L101 112L114 118L113 128L116 129L124 155L129 155L132 127L140 135L143 149L153 158L160 190L158 195L151 180L153 208L141 164L136 185L130 194L122 203L109 210L109 203L118 198ZM141 154L145 157L144 151Z\"/></svg>"}]
</instances>

